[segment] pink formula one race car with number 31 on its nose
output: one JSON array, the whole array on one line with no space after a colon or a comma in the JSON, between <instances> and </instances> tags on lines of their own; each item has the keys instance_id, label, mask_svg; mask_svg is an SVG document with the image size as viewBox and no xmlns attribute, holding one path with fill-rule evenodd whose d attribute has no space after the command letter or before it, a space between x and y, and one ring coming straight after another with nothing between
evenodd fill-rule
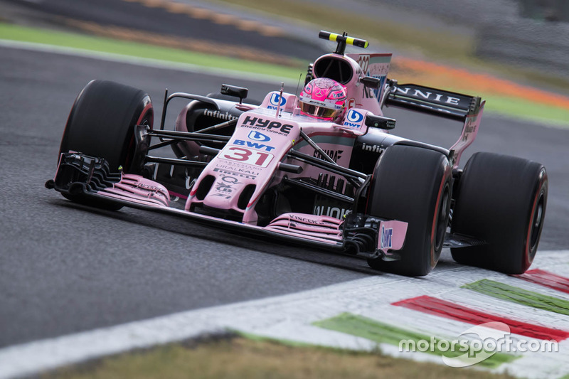
<instances>
[{"instance_id":1,"label":"pink formula one race car with number 31 on its nose","mask_svg":"<svg viewBox=\"0 0 569 379\"><path fill-rule=\"evenodd\" d=\"M520 274L543 228L546 169L477 153L484 101L387 78L390 54L346 54L368 43L325 31L334 53L309 66L299 95L222 85L207 96L164 97L158 130L149 95L92 80L70 112L55 178L46 187L100 208L124 205L220 228L366 258L374 269L419 276L443 246L457 262ZM174 98L188 99L173 130ZM229 99L229 100L228 100ZM450 149L390 134L383 107L462 123ZM177 158L149 154L171 146Z\"/></svg>"}]
</instances>

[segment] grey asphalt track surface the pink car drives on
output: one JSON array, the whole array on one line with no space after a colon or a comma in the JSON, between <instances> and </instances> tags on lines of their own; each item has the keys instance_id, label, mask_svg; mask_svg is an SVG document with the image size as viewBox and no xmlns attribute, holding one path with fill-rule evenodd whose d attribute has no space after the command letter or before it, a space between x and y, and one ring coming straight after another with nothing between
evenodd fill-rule
<instances>
[{"instance_id":1,"label":"grey asphalt track surface the pink car drives on","mask_svg":"<svg viewBox=\"0 0 569 379\"><path fill-rule=\"evenodd\" d=\"M161 111L164 88L206 94L223 78L0 48L0 347L367 277L363 260L225 233L167 215L108 212L43 187L53 177L75 96L91 79L139 87ZM275 85L231 80L260 98ZM460 126L398 117L405 137L450 146ZM568 129L487 115L474 151L545 164L550 197L541 249L569 246ZM469 155L464 156L464 161ZM442 267L453 265L445 253Z\"/></svg>"}]
</instances>

